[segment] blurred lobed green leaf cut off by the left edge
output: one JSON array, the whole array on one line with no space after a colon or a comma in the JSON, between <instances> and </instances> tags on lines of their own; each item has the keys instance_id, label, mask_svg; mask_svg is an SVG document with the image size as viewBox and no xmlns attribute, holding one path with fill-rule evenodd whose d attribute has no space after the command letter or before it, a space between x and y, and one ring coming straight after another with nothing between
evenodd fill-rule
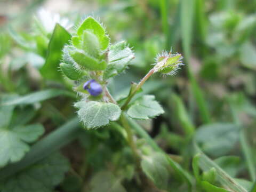
<instances>
[{"instance_id":1,"label":"blurred lobed green leaf cut off by the left edge","mask_svg":"<svg viewBox=\"0 0 256 192\"><path fill-rule=\"evenodd\" d=\"M29 151L27 143L37 140L44 133L41 124L0 127L0 167L19 161Z\"/></svg>"}]
</instances>

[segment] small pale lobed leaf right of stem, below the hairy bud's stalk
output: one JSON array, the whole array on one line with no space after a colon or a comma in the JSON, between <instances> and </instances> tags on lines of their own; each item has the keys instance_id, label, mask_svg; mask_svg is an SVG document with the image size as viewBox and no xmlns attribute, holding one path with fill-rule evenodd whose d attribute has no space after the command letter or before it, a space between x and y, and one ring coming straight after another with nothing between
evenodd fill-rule
<instances>
[{"instance_id":1,"label":"small pale lobed leaf right of stem, below the hairy bud's stalk","mask_svg":"<svg viewBox=\"0 0 256 192\"><path fill-rule=\"evenodd\" d=\"M138 98L127 111L134 119L154 118L164 113L163 108L155 101L154 95L144 95Z\"/></svg>"}]
</instances>

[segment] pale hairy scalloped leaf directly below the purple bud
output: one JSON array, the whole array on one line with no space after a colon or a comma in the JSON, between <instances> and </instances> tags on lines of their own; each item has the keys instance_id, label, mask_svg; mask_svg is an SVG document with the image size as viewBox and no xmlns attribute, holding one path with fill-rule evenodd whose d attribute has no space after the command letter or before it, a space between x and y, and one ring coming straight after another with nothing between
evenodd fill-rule
<instances>
[{"instance_id":1,"label":"pale hairy scalloped leaf directly below the purple bud","mask_svg":"<svg viewBox=\"0 0 256 192\"><path fill-rule=\"evenodd\" d=\"M121 115L121 109L113 103L97 101L80 101L75 103L78 117L87 129L92 129L109 124L109 121L116 121Z\"/></svg>"}]
</instances>

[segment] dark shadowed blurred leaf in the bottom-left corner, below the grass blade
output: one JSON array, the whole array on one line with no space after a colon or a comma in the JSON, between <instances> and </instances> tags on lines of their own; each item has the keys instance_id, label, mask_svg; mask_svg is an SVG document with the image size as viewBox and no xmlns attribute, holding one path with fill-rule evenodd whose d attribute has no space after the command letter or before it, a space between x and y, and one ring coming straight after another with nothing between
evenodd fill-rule
<instances>
[{"instance_id":1,"label":"dark shadowed blurred leaf in the bottom-left corner, below the grass blade","mask_svg":"<svg viewBox=\"0 0 256 192\"><path fill-rule=\"evenodd\" d=\"M68 170L67 158L53 154L8 178L2 192L52 192Z\"/></svg>"}]
</instances>

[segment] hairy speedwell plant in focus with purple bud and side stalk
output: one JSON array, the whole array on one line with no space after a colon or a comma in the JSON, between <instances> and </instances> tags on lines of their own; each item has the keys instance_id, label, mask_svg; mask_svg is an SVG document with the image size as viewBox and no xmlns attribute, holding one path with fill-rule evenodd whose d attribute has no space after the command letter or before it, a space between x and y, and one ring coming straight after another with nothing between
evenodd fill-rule
<instances>
[{"instance_id":1,"label":"hairy speedwell plant in focus with purple bud and side stalk","mask_svg":"<svg viewBox=\"0 0 256 192\"><path fill-rule=\"evenodd\" d=\"M182 65L181 54L157 55L155 66L138 84L131 85L129 95L115 101L107 89L108 80L121 74L133 58L125 42L110 44L105 28L92 17L81 23L70 44L63 48L60 68L66 77L75 81L74 91L81 96L75 107L87 129L117 121L122 113L134 119L149 119L164 113L153 95L143 95L133 102L131 99L152 74L175 74Z\"/></svg>"}]
</instances>

